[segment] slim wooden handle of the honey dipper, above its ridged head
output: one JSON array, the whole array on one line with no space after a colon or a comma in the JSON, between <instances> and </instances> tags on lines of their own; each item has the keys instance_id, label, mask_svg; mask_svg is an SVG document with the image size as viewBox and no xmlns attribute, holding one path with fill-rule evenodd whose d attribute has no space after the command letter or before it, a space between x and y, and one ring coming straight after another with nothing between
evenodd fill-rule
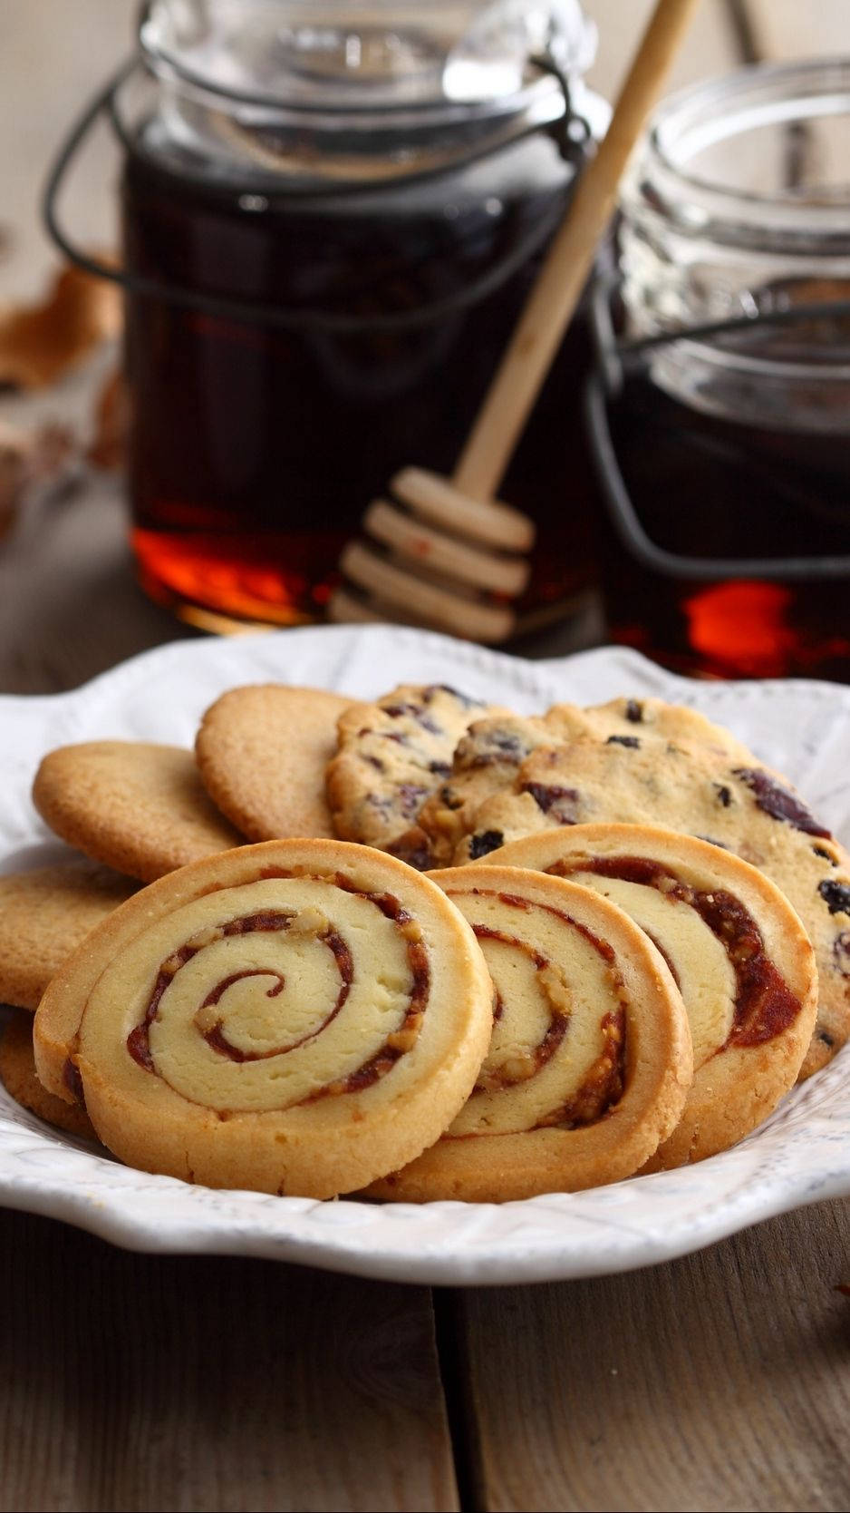
<instances>
[{"instance_id":1,"label":"slim wooden handle of the honey dipper, above its ridged head","mask_svg":"<svg viewBox=\"0 0 850 1513\"><path fill-rule=\"evenodd\" d=\"M697 0L658 0L596 156L582 171L454 471L473 499L492 499L579 301L623 169Z\"/></svg>"}]
</instances>

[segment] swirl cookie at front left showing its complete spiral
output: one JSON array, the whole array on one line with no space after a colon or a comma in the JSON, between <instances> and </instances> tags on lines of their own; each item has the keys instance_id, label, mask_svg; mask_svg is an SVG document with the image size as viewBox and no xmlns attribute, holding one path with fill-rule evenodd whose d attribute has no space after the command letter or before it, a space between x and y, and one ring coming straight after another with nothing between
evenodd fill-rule
<instances>
[{"instance_id":1,"label":"swirl cookie at front left showing its complete spiral","mask_svg":"<svg viewBox=\"0 0 850 1513\"><path fill-rule=\"evenodd\" d=\"M395 858L224 852L135 894L36 1012L36 1067L147 1171L327 1198L433 1144L487 1050L469 924Z\"/></svg>"}]
</instances>

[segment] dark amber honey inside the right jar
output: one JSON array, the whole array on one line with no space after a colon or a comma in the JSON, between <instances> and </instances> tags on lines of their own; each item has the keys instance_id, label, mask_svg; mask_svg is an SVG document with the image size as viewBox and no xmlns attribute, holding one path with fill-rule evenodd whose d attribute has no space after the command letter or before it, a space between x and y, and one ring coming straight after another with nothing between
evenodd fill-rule
<instances>
[{"instance_id":1,"label":"dark amber honey inside the right jar","mask_svg":"<svg viewBox=\"0 0 850 1513\"><path fill-rule=\"evenodd\" d=\"M850 554L850 436L735 425L632 380L611 409L647 537L685 561ZM610 634L678 672L850 681L850 583L652 572L599 510Z\"/></svg>"}]
</instances>

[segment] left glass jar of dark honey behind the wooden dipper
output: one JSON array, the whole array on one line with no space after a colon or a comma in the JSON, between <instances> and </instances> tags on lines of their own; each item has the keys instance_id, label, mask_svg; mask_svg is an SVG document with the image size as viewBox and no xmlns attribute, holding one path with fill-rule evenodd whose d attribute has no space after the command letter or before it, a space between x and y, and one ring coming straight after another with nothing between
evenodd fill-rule
<instances>
[{"instance_id":1,"label":"left glass jar of dark honey behind the wooden dipper","mask_svg":"<svg viewBox=\"0 0 850 1513\"><path fill-rule=\"evenodd\" d=\"M109 109L141 579L195 623L316 620L369 501L457 460L605 126L594 29L576 0L153 0L139 42ZM505 480L529 616L591 581L587 353L576 325Z\"/></svg>"}]
</instances>

